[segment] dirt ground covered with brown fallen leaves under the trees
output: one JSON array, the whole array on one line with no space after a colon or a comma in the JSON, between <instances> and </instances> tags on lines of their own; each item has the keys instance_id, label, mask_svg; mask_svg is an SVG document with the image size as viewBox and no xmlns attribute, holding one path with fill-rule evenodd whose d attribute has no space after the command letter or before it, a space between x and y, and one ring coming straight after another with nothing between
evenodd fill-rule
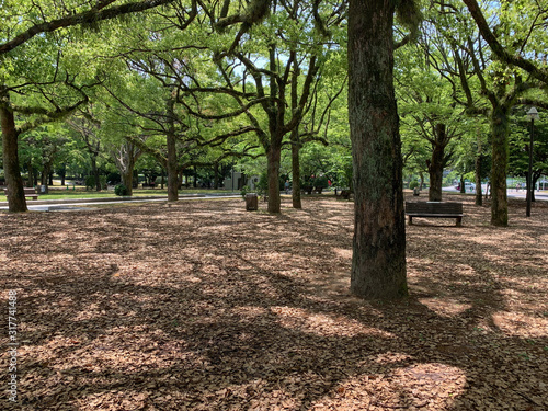
<instances>
[{"instance_id":1,"label":"dirt ground covered with brown fallen leaves under the trees","mask_svg":"<svg viewBox=\"0 0 548 411\"><path fill-rule=\"evenodd\" d=\"M2 214L0 408L546 410L548 203L445 199L464 226L407 227L393 304L349 294L344 201Z\"/></svg>"}]
</instances>

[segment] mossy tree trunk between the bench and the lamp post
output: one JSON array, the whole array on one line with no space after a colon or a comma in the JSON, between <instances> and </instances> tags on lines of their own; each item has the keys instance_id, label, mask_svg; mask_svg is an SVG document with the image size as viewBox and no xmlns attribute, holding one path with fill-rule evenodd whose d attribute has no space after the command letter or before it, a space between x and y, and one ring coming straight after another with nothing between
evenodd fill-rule
<instances>
[{"instance_id":1,"label":"mossy tree trunk between the bench and the lamp post","mask_svg":"<svg viewBox=\"0 0 548 411\"><path fill-rule=\"evenodd\" d=\"M509 225L506 195L506 169L509 163L509 111L498 105L491 114L492 167L491 167L491 225Z\"/></svg>"}]
</instances>

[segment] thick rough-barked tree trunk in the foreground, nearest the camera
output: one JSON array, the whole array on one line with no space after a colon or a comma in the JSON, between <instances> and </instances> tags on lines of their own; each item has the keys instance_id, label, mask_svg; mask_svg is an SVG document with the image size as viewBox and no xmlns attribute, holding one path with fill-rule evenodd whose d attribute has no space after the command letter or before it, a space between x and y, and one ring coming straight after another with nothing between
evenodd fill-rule
<instances>
[{"instance_id":1,"label":"thick rough-barked tree trunk in the foreground, nearest the camera","mask_svg":"<svg viewBox=\"0 0 548 411\"><path fill-rule=\"evenodd\" d=\"M399 118L393 91L395 2L351 0L349 116L355 222L351 290L408 295Z\"/></svg>"}]
</instances>

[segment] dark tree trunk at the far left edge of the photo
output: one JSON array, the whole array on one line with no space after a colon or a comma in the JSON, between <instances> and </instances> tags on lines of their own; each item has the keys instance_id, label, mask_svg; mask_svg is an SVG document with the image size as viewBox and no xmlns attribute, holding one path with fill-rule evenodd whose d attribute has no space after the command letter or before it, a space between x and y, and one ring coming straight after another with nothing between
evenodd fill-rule
<instances>
[{"instance_id":1,"label":"dark tree trunk at the far left edge of the photo","mask_svg":"<svg viewBox=\"0 0 548 411\"><path fill-rule=\"evenodd\" d=\"M26 208L23 179L21 178L21 170L19 168L19 134L15 128L13 112L3 105L0 105L0 124L2 127L3 172L5 175L5 185L10 193L8 196L8 208L11 213L24 213L28 209Z\"/></svg>"}]
</instances>

